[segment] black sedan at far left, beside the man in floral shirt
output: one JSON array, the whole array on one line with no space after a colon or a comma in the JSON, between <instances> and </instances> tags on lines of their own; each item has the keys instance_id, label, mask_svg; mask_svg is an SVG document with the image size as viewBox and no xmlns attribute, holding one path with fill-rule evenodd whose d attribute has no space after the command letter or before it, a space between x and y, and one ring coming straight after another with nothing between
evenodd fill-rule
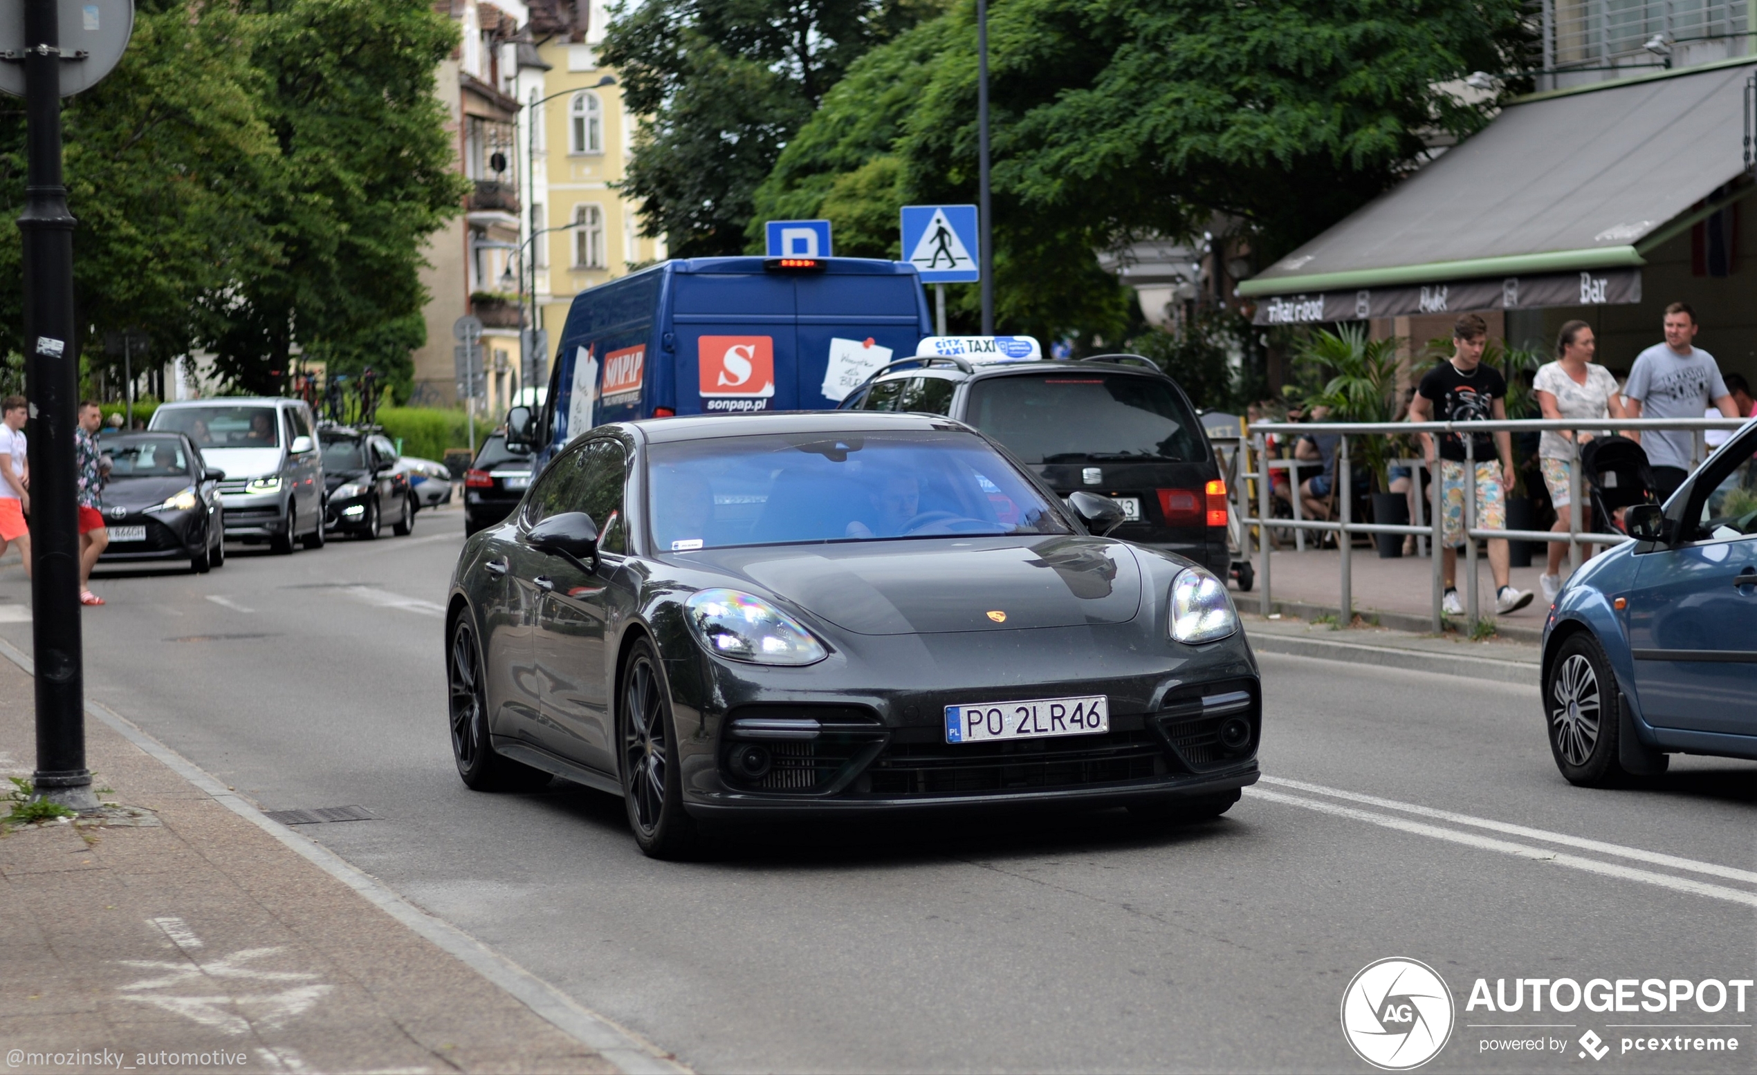
<instances>
[{"instance_id":1,"label":"black sedan at far left, beside the man in floral shirt","mask_svg":"<svg viewBox=\"0 0 1757 1075\"><path fill-rule=\"evenodd\" d=\"M102 564L186 559L202 573L225 564L225 471L209 469L188 436L105 434L102 448L111 460Z\"/></svg>"}]
</instances>

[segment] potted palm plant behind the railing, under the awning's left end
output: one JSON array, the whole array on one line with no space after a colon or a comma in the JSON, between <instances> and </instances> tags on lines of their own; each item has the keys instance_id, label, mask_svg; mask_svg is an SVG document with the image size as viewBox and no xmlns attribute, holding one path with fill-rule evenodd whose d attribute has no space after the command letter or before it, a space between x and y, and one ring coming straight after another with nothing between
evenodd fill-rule
<instances>
[{"instance_id":1,"label":"potted palm plant behind the railing, under the awning's left end","mask_svg":"<svg viewBox=\"0 0 1757 1075\"><path fill-rule=\"evenodd\" d=\"M1335 332L1320 328L1307 335L1295 348L1293 360L1321 385L1305 393L1305 406L1328 408L1332 422L1395 422L1399 343L1369 339L1360 325L1342 325ZM1397 458L1400 441L1386 434L1349 437L1351 460L1367 471L1372 487L1372 518L1379 523L1409 522L1409 502L1404 494L1390 492L1390 464ZM1376 534L1374 545L1386 559L1400 557L1404 552L1404 539L1399 534Z\"/></svg>"}]
</instances>

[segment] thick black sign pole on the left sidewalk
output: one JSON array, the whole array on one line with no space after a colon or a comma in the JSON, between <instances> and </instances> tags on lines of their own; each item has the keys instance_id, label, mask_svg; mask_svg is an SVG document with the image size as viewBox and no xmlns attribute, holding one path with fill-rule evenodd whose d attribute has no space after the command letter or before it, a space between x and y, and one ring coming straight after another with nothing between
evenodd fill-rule
<instances>
[{"instance_id":1,"label":"thick black sign pole on the left sidewalk","mask_svg":"<svg viewBox=\"0 0 1757 1075\"><path fill-rule=\"evenodd\" d=\"M86 768L74 458L74 216L61 184L56 0L25 0L25 392L30 397L32 643L37 655L37 797L97 810Z\"/></svg>"}]
</instances>

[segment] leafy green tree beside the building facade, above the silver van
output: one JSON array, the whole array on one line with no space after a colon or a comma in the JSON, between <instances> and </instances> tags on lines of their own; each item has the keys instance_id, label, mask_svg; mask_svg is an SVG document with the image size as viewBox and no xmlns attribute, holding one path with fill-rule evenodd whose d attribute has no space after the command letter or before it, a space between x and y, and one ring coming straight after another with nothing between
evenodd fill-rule
<instances>
[{"instance_id":1,"label":"leafy green tree beside the building facade, above the silver van","mask_svg":"<svg viewBox=\"0 0 1757 1075\"><path fill-rule=\"evenodd\" d=\"M239 0L258 23L278 183L267 221L279 256L209 299L218 371L279 392L293 348L360 355L420 346L422 242L459 211L434 70L457 28L427 0ZM404 355L406 360L406 355Z\"/></svg>"}]
</instances>

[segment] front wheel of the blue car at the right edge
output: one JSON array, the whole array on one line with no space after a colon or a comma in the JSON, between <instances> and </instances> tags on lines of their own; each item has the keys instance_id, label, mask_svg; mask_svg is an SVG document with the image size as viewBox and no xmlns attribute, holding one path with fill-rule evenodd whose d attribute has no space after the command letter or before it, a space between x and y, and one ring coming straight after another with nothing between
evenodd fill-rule
<instances>
[{"instance_id":1,"label":"front wheel of the blue car at the right edge","mask_svg":"<svg viewBox=\"0 0 1757 1075\"><path fill-rule=\"evenodd\" d=\"M1562 776L1583 787L1618 783L1625 776L1616 757L1622 713L1616 675L1599 639L1580 632L1562 643L1543 697L1550 752Z\"/></svg>"}]
</instances>

